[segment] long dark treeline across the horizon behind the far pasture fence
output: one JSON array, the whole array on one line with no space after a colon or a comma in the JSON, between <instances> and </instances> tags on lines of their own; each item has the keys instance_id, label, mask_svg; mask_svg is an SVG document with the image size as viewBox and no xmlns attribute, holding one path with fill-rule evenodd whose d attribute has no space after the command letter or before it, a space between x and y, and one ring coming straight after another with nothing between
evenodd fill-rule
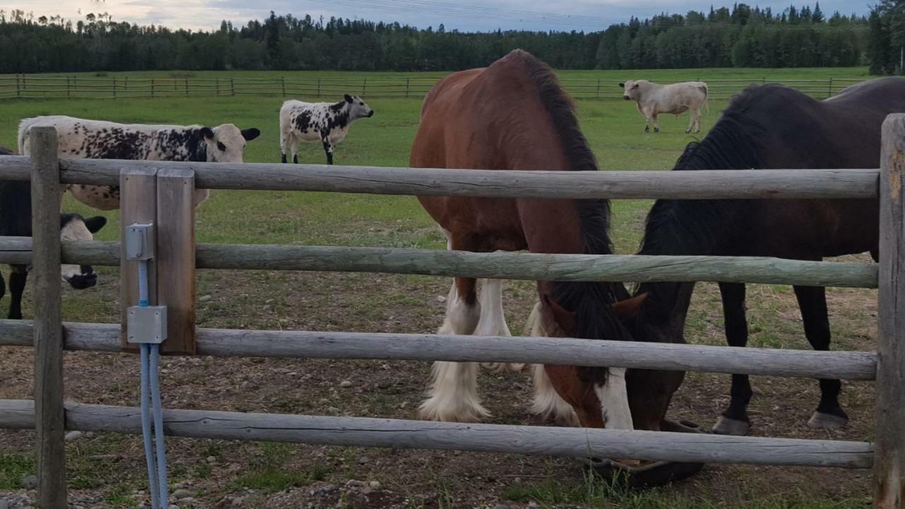
<instances>
[{"instance_id":1,"label":"long dark treeline across the horizon behind the far pasture fence","mask_svg":"<svg viewBox=\"0 0 905 509\"><path fill-rule=\"evenodd\" d=\"M192 32L88 14L0 11L0 73L156 70L453 71L515 48L559 69L843 66L862 63L867 19L738 4L709 14L633 18L600 32L462 33L443 24L271 16Z\"/></svg>"}]
</instances>

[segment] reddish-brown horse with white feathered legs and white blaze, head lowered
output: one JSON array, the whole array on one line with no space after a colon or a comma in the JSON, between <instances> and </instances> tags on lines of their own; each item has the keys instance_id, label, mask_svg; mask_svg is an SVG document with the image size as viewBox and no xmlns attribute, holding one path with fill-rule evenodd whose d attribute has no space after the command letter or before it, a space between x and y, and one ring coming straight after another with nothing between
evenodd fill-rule
<instances>
[{"instance_id":1,"label":"reddish-brown horse with white feathered legs and white blaze, head lowered","mask_svg":"<svg viewBox=\"0 0 905 509\"><path fill-rule=\"evenodd\" d=\"M594 154L578 129L573 103L543 62L517 50L486 69L456 72L424 99L414 138L414 168L595 171ZM609 254L606 200L419 197L443 229L449 249L491 252ZM508 334L499 281L455 278L440 333ZM538 282L538 325L551 336L631 340L617 314L636 301L621 284ZM485 417L477 394L478 365L435 362L423 418ZM536 370L536 372L538 372ZM547 366L559 395L586 427L632 427L624 370ZM541 386L543 387L543 386ZM555 411L555 399L544 410ZM560 408L561 409L561 408Z\"/></svg>"}]
</instances>

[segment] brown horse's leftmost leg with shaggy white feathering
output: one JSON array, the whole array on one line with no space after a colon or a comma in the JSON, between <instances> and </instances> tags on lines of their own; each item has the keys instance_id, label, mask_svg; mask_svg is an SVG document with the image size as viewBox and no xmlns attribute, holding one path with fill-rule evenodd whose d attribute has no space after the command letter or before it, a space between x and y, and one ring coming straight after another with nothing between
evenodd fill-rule
<instances>
[{"instance_id":1,"label":"brown horse's leftmost leg with shaggy white feathering","mask_svg":"<svg viewBox=\"0 0 905 509\"><path fill-rule=\"evenodd\" d=\"M446 317L439 334L472 334L481 316L475 292L476 280L457 277L446 301ZM433 382L419 416L429 420L470 422L490 415L478 397L478 363L433 363Z\"/></svg>"}]
</instances>

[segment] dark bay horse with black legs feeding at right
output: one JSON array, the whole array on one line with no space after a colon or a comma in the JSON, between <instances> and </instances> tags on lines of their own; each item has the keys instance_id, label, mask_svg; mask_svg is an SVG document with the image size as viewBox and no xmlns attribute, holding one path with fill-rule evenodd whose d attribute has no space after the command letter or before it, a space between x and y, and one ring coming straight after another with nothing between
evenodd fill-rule
<instances>
[{"instance_id":1,"label":"dark bay horse with black legs feeding at right","mask_svg":"<svg viewBox=\"0 0 905 509\"><path fill-rule=\"evenodd\" d=\"M780 85L748 88L700 143L688 145L674 170L743 168L878 168L881 123L905 111L905 79L863 82L825 101ZM643 255L777 256L821 260L870 251L877 259L878 203L840 200L657 200L647 216ZM683 342L693 283L644 283L639 313L627 325L637 341ZM745 346L745 285L720 283L726 337ZM829 350L830 324L823 287L795 286L814 350ZM630 404L668 403L681 379L645 379L628 373ZM842 427L838 379L820 380L821 398L808 424ZM713 430L748 433L748 375L733 375L731 401ZM659 410L658 410L659 411Z\"/></svg>"}]
</instances>

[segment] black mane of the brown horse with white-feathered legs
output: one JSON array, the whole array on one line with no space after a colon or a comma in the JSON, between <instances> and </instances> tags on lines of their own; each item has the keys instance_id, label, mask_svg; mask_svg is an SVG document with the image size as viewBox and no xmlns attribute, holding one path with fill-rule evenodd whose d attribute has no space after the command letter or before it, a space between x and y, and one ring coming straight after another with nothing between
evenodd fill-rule
<instances>
[{"instance_id":1,"label":"black mane of the brown horse with white-feathered legs","mask_svg":"<svg viewBox=\"0 0 905 509\"><path fill-rule=\"evenodd\" d=\"M565 152L570 171L598 171L594 152L578 125L575 102L563 91L556 74L544 62L529 53L516 50L508 58L518 59L528 71L529 80L538 91L538 99L547 110ZM576 200L581 235L588 255L611 255L609 237L610 202L605 199ZM575 336L586 339L619 339L621 324L613 312L607 312L618 299L628 297L619 283L556 282L553 298L576 313ZM596 383L606 379L606 369L580 367L579 378Z\"/></svg>"}]
</instances>

